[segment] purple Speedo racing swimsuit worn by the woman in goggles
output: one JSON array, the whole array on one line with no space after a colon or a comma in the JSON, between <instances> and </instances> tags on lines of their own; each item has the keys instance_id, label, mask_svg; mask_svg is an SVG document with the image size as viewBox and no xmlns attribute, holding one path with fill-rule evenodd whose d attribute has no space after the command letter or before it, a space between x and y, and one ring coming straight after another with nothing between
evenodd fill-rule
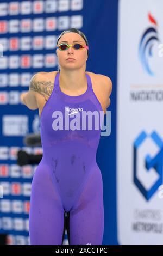
<instances>
[{"instance_id":1,"label":"purple Speedo racing swimsuit worn by the woman in goggles","mask_svg":"<svg viewBox=\"0 0 163 256\"><path fill-rule=\"evenodd\" d=\"M30 244L62 245L66 212L69 245L102 245L103 181L96 152L101 136L99 112L103 117L104 112L88 74L85 73L87 90L79 96L61 91L59 75L58 72L55 76L52 94L40 117L43 156L32 180ZM72 108L80 108L80 111L72 114ZM90 130L89 122L86 122L86 129L82 129L86 120L82 117L83 111L96 112ZM80 129L67 129L71 122L77 124L74 119Z\"/></svg>"}]
</instances>

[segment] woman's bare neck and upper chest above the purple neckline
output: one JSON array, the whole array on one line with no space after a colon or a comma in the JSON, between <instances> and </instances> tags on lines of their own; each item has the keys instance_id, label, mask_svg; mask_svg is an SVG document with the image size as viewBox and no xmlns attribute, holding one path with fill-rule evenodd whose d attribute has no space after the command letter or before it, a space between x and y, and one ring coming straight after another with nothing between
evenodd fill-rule
<instances>
[{"instance_id":1,"label":"woman's bare neck and upper chest above the purple neckline","mask_svg":"<svg viewBox=\"0 0 163 256\"><path fill-rule=\"evenodd\" d=\"M60 71L59 76L60 87L66 89L70 92L78 92L82 90L87 84L87 79L85 76L85 70L62 70Z\"/></svg>"}]
</instances>

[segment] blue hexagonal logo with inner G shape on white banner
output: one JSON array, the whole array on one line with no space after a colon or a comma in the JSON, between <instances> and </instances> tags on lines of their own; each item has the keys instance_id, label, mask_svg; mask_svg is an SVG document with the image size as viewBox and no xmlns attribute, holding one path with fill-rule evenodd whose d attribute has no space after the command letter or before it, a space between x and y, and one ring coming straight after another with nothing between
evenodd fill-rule
<instances>
[{"instance_id":1,"label":"blue hexagonal logo with inner G shape on white banner","mask_svg":"<svg viewBox=\"0 0 163 256\"><path fill-rule=\"evenodd\" d=\"M137 152L141 147L142 143L150 137L158 148L159 152L152 158L149 154L145 156L144 159L144 167L147 172L150 172L150 169L154 169L156 173L158 173L159 178L155 181L155 183L147 190L145 186L143 186L140 178L137 175ZM135 139L134 142L134 183L139 188L142 195L146 198L146 200L151 199L154 193L158 190L159 186L162 184L162 167L163 167L163 142L159 137L158 133L155 131L152 132L151 136L147 135L145 131L142 131L140 135Z\"/></svg>"}]
</instances>

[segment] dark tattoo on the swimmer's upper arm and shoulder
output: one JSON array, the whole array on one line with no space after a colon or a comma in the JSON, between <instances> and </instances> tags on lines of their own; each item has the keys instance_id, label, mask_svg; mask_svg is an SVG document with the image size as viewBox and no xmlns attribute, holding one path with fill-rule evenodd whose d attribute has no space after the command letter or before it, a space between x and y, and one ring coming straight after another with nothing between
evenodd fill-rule
<instances>
[{"instance_id":1,"label":"dark tattoo on the swimmer's upper arm and shoulder","mask_svg":"<svg viewBox=\"0 0 163 256\"><path fill-rule=\"evenodd\" d=\"M49 96L51 96L54 84L51 81L38 81L38 79L36 79L36 75L32 78L32 80L30 80L29 89L43 95L47 101Z\"/></svg>"}]
</instances>

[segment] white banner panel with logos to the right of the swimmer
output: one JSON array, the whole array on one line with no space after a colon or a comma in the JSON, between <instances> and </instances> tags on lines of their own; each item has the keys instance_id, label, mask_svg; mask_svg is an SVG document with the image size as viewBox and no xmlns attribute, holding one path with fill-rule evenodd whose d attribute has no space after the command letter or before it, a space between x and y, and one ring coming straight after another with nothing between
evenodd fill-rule
<instances>
[{"instance_id":1,"label":"white banner panel with logos to the right of the swimmer","mask_svg":"<svg viewBox=\"0 0 163 256\"><path fill-rule=\"evenodd\" d=\"M117 236L163 245L163 1L118 5Z\"/></svg>"}]
</instances>

